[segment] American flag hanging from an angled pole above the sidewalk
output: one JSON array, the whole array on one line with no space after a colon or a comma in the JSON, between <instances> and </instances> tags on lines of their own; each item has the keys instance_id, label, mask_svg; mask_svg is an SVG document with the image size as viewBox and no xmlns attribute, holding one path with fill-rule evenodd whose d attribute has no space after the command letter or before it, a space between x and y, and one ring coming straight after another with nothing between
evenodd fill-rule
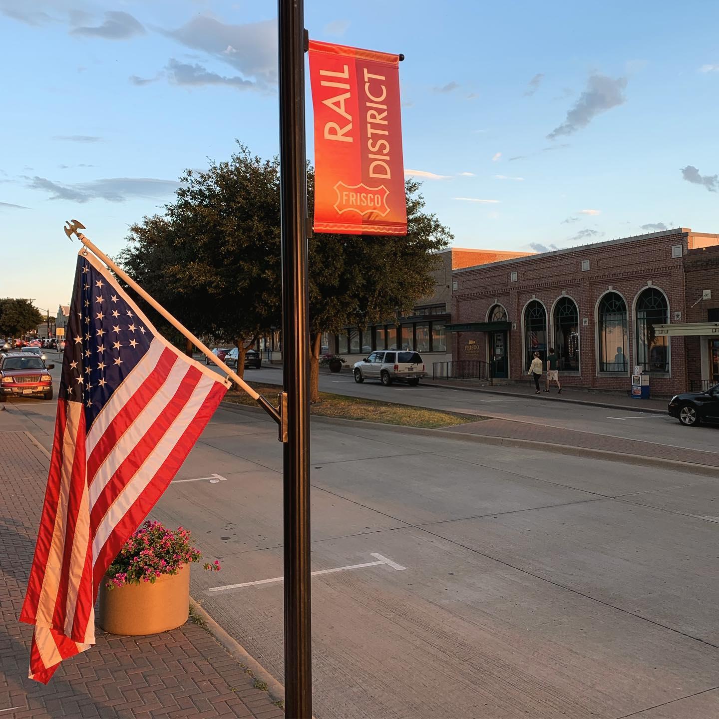
<instances>
[{"instance_id":1,"label":"American flag hanging from an angled pole above the sidewalk","mask_svg":"<svg viewBox=\"0 0 719 719\"><path fill-rule=\"evenodd\" d=\"M93 255L78 256L50 474L20 620L47 683L95 643L104 574L170 484L229 380L172 347Z\"/></svg>"}]
</instances>

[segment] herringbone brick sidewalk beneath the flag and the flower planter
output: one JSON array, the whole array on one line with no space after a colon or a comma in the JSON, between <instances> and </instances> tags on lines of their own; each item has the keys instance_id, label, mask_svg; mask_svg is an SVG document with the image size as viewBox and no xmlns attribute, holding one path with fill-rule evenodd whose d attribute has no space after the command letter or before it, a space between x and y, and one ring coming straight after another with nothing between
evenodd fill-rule
<instances>
[{"instance_id":1,"label":"herringbone brick sidewalk beneath the flag and the flower planter","mask_svg":"<svg viewBox=\"0 0 719 719\"><path fill-rule=\"evenodd\" d=\"M20 624L45 492L47 457L0 423L0 717L159 719L283 717L267 692L211 634L119 637L98 630L92 649L60 665L47 687L27 679L32 627Z\"/></svg>"}]
</instances>

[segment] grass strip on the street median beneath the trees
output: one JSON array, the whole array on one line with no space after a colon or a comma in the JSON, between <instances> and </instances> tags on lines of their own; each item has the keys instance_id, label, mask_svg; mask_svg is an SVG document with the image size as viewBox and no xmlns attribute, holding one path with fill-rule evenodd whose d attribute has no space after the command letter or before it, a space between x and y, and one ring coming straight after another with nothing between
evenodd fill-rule
<instances>
[{"instance_id":1,"label":"grass strip on the street median beneath the trees","mask_svg":"<svg viewBox=\"0 0 719 719\"><path fill-rule=\"evenodd\" d=\"M280 385L250 382L257 392L277 404L277 395L282 391ZM467 422L477 422L486 417L475 415L456 414L438 409L413 407L395 404L393 402L380 402L362 397L347 397L330 392L319 393L320 400L310 406L310 413L319 417L339 417L342 419L355 419L363 422L377 422L380 424L397 424L404 427L424 427L425 429L439 429L452 427ZM242 391L230 390L225 400L247 406L257 406L255 400Z\"/></svg>"}]
</instances>

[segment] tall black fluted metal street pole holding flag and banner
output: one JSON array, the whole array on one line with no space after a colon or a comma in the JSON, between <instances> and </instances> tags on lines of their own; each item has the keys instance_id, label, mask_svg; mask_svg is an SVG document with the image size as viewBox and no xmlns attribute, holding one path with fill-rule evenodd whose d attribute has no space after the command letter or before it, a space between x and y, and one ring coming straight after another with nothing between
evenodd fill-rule
<instances>
[{"instance_id":1,"label":"tall black fluted metal street pole holding flag and banner","mask_svg":"<svg viewBox=\"0 0 719 719\"><path fill-rule=\"evenodd\" d=\"M303 0L278 0L282 223L285 715L312 717L309 321Z\"/></svg>"}]
</instances>

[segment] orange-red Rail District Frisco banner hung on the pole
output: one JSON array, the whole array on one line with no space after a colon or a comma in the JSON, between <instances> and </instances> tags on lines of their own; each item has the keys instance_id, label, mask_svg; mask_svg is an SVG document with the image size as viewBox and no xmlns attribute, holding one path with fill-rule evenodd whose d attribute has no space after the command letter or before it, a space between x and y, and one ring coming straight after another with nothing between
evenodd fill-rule
<instances>
[{"instance_id":1,"label":"orange-red Rail District Frisco banner hung on the pole","mask_svg":"<svg viewBox=\"0 0 719 719\"><path fill-rule=\"evenodd\" d=\"M407 234L399 55L310 40L315 232Z\"/></svg>"}]
</instances>

